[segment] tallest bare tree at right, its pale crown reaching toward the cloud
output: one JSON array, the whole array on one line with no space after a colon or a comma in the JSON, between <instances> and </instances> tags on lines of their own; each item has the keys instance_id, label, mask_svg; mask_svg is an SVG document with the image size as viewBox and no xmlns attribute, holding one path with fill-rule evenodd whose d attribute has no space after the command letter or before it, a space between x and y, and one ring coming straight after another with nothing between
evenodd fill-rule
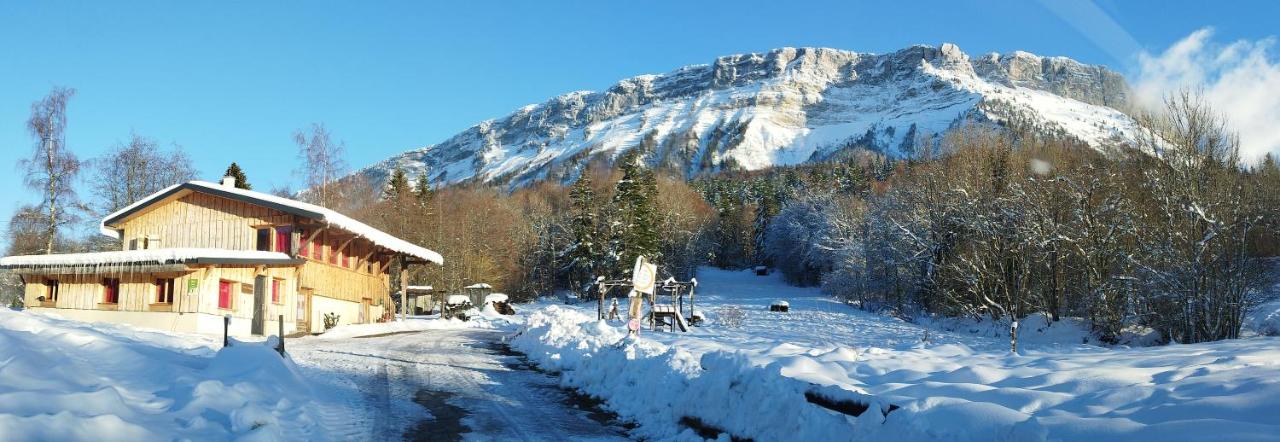
<instances>
[{"instance_id":1,"label":"tallest bare tree at right, its pale crown reaching toward the cloud","mask_svg":"<svg viewBox=\"0 0 1280 442\"><path fill-rule=\"evenodd\" d=\"M1146 169L1153 213L1137 263L1148 281L1142 311L1169 340L1239 337L1258 302L1248 238L1262 227L1242 181L1239 138L1189 91L1170 96L1144 123L1146 147L1164 161Z\"/></svg>"}]
</instances>

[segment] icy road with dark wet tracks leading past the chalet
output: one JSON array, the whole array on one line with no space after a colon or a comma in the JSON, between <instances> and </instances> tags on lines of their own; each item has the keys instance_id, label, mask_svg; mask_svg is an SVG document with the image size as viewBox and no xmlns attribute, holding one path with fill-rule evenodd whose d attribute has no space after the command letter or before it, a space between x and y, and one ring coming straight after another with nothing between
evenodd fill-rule
<instances>
[{"instance_id":1,"label":"icy road with dark wet tracks leading past the chalet","mask_svg":"<svg viewBox=\"0 0 1280 442\"><path fill-rule=\"evenodd\" d=\"M575 407L554 377L521 366L503 336L458 325L302 338L288 351L320 391L332 439L626 439L609 419Z\"/></svg>"}]
</instances>

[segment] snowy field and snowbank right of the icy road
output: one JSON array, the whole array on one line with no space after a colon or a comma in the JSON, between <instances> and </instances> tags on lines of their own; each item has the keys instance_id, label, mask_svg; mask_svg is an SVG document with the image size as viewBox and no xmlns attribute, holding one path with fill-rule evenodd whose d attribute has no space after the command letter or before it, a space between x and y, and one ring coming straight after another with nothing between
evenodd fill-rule
<instances>
[{"instance_id":1,"label":"snowy field and snowbank right of the icy road","mask_svg":"<svg viewBox=\"0 0 1280 442\"><path fill-rule=\"evenodd\" d=\"M777 275L699 279L710 324L691 333L632 340L594 304L544 305L513 347L652 439L695 438L686 418L758 441L1280 438L1280 338L1107 348L1082 343L1078 324L1030 319L1012 355L995 327L867 314ZM791 313L769 313L776 300Z\"/></svg>"}]
</instances>

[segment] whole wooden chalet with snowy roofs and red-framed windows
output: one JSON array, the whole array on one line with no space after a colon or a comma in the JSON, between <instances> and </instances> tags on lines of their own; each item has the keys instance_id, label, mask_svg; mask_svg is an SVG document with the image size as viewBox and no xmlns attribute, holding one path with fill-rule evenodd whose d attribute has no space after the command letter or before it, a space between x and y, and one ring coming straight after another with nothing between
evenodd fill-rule
<instances>
[{"instance_id":1,"label":"whole wooden chalet with snowy roofs and red-framed windows","mask_svg":"<svg viewBox=\"0 0 1280 442\"><path fill-rule=\"evenodd\" d=\"M284 329L324 332L390 319L388 268L442 264L439 254L333 210L274 195L192 181L102 219L123 250L8 256L33 310L86 322L118 322L234 336ZM402 293L403 295L403 293Z\"/></svg>"}]
</instances>

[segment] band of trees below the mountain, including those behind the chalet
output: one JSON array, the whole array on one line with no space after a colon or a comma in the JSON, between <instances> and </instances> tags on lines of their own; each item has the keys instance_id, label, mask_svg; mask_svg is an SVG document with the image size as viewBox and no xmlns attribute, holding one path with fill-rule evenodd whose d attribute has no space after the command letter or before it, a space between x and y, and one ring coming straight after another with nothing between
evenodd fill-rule
<instances>
[{"instance_id":1,"label":"band of trees below the mountain, including those behind the chalet","mask_svg":"<svg viewBox=\"0 0 1280 442\"><path fill-rule=\"evenodd\" d=\"M119 250L93 234L100 217L196 174L180 147L140 135L78 159L63 136L73 95L55 88L32 106L35 147L19 165L42 197L9 220L9 255ZM1129 327L1238 337L1280 255L1280 164L1240 165L1236 136L1193 94L1139 120L1147 137L1124 150L974 123L918 135L911 159L867 151L694 179L645 167L640 146L616 167L584 165L572 184L517 190L401 170L385 186L340 178L344 146L315 124L293 137L306 191L271 192L439 251L444 266L415 266L410 282L444 290L584 293L643 255L662 278L769 265L906 319L1044 313L1084 318L1110 342ZM251 187L251 170L227 174Z\"/></svg>"}]
</instances>

